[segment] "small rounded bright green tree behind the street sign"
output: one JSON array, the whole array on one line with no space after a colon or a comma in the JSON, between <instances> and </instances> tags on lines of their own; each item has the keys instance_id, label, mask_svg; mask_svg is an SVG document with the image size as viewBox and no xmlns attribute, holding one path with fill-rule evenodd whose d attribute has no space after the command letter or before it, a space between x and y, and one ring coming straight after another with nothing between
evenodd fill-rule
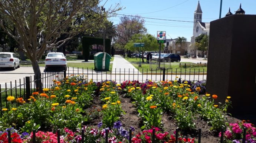
<instances>
[{"instance_id":1,"label":"small rounded bright green tree behind the street sign","mask_svg":"<svg viewBox=\"0 0 256 143\"><path fill-rule=\"evenodd\" d=\"M134 43L144 43L144 47L134 47ZM159 45L157 43L157 38L150 34L135 34L132 36L131 40L125 45L125 48L132 51L139 51L142 53L142 63L144 63L144 53L146 51L155 51L159 49ZM164 48L164 44L162 44L161 49Z\"/></svg>"}]
</instances>

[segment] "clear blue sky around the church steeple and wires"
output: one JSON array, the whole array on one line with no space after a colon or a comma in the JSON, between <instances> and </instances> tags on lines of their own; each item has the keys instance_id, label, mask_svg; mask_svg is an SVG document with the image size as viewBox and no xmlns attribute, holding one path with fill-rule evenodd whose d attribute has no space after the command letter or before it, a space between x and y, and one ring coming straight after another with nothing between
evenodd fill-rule
<instances>
[{"instance_id":1,"label":"clear blue sky around the church steeple and wires","mask_svg":"<svg viewBox=\"0 0 256 143\"><path fill-rule=\"evenodd\" d=\"M187 41L190 41L190 37L193 35L193 23L180 21L194 20L194 11L196 10L198 0L102 0L101 3L105 3L104 7L106 9L111 5L119 3L124 9L118 11L118 14L178 20L165 21L145 18L147 32L154 36L157 35L157 31L166 31L167 39L184 36L187 38ZM234 14L234 11L239 8L240 3L242 3L245 14L256 14L256 0L223 0L221 18L229 11L229 7L230 11ZM200 5L203 11L202 22L210 22L219 18L220 0L200 0ZM119 24L121 16L117 15L109 20L113 21L114 24Z\"/></svg>"}]
</instances>

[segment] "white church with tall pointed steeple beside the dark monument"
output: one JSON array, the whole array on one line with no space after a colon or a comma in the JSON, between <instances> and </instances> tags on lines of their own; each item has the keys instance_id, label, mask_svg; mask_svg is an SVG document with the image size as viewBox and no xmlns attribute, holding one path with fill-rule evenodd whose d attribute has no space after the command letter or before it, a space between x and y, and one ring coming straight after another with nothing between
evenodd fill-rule
<instances>
[{"instance_id":1,"label":"white church with tall pointed steeple beside the dark monument","mask_svg":"<svg viewBox=\"0 0 256 143\"><path fill-rule=\"evenodd\" d=\"M191 45L190 45L190 55L197 55L198 54L202 54L201 51L199 50L195 50L193 48L194 46L194 43L195 43L195 38L197 36L199 36L200 34L206 34L209 36L209 33L210 33L210 23L205 23L205 22L202 22L202 10L201 10L201 6L200 6L200 3L198 1L198 4L197 4L197 8L194 12L194 27L193 27L193 36L191 36Z\"/></svg>"}]
</instances>

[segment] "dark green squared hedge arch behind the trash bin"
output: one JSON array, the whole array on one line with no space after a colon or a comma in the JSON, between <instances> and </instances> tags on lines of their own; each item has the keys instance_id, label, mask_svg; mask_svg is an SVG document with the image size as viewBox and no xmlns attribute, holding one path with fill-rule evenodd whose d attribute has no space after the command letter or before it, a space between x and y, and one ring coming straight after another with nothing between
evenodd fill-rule
<instances>
[{"instance_id":1,"label":"dark green squared hedge arch behind the trash bin","mask_svg":"<svg viewBox=\"0 0 256 143\"><path fill-rule=\"evenodd\" d=\"M82 37L82 46L83 46L83 59L88 61L90 55L90 45L103 45L103 38L96 38L96 37L89 37L83 36ZM111 40L106 38L105 39L105 51L109 55L111 55Z\"/></svg>"}]
</instances>

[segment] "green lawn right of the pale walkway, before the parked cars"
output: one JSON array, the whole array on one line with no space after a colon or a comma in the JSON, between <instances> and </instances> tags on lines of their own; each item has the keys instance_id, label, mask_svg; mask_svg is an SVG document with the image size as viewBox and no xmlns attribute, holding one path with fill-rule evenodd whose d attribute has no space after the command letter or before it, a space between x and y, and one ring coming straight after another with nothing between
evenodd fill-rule
<instances>
[{"instance_id":1,"label":"green lawn right of the pale walkway, before the parked cars","mask_svg":"<svg viewBox=\"0 0 256 143\"><path fill-rule=\"evenodd\" d=\"M142 72L142 69L143 69L143 72L147 72L147 70L148 70L148 72L150 72L150 64L148 64L148 63L142 63L141 64L141 67L139 67L139 64L138 63L132 63L132 65L136 68L136 69L138 69L140 72ZM171 72L171 70L173 71L173 72L176 72L176 69L177 69L177 72L185 72L185 70L186 70L186 73L189 73L189 71L191 71L191 72L198 72L198 71L200 71L200 72L207 72L207 67L196 67L196 68L180 68L179 67L179 64L171 64L171 69L168 69L168 73L169 72ZM155 70L153 70L153 71L155 71ZM160 69L159 70L157 70L157 72L160 72Z\"/></svg>"}]
</instances>

